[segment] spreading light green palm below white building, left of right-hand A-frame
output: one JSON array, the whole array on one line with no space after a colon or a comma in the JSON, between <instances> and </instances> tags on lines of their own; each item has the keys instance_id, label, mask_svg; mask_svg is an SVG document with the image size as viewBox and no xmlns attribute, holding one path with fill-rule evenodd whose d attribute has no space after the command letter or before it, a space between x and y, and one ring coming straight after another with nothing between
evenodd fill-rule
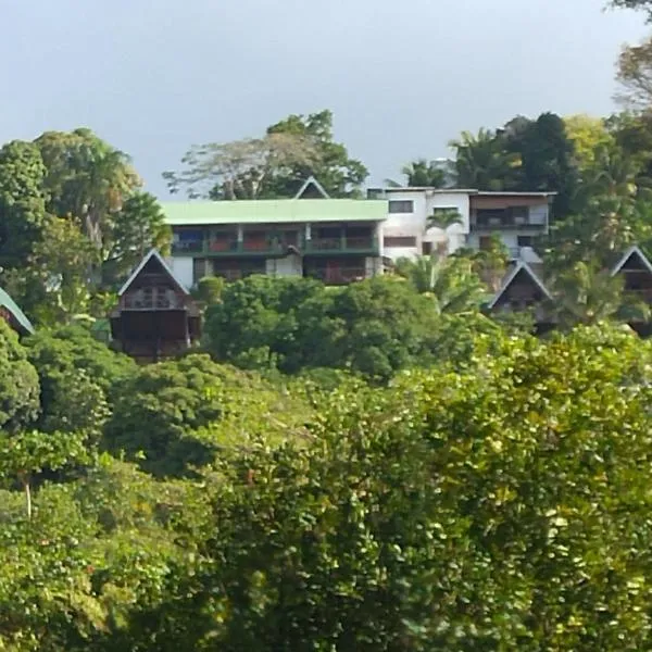
<instances>
[{"instance_id":1,"label":"spreading light green palm below white building, left of right-hand A-frame","mask_svg":"<svg viewBox=\"0 0 652 652\"><path fill-rule=\"evenodd\" d=\"M440 314L476 311L485 299L485 287L466 259L436 255L400 259L396 271L418 292L431 296Z\"/></svg>"}]
</instances>

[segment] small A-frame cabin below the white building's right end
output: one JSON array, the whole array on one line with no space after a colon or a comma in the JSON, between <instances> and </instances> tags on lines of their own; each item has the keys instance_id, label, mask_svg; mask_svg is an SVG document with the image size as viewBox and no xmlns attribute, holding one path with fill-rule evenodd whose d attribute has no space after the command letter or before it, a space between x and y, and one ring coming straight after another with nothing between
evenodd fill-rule
<instances>
[{"instance_id":1,"label":"small A-frame cabin below the white building's right end","mask_svg":"<svg viewBox=\"0 0 652 652\"><path fill-rule=\"evenodd\" d=\"M505 276L500 290L488 308L494 313L516 313L534 310L538 330L548 330L552 324L546 303L552 294L531 265L518 261Z\"/></svg>"}]
</instances>

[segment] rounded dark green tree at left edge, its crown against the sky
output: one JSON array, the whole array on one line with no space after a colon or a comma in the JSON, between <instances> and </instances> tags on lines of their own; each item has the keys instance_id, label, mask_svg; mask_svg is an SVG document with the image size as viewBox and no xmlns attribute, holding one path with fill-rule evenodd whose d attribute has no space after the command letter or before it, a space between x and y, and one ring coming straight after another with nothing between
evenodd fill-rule
<instances>
[{"instance_id":1,"label":"rounded dark green tree at left edge, its crown against the sky","mask_svg":"<svg viewBox=\"0 0 652 652\"><path fill-rule=\"evenodd\" d=\"M0 149L0 267L24 264L47 223L46 166L38 148L20 140Z\"/></svg>"}]
</instances>

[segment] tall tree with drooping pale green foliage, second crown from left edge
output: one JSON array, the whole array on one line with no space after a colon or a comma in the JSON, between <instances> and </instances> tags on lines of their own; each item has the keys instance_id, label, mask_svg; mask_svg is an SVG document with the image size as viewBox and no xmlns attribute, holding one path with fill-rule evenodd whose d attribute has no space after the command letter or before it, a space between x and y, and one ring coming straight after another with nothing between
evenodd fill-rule
<instances>
[{"instance_id":1,"label":"tall tree with drooping pale green foliage, second crown from left edge","mask_svg":"<svg viewBox=\"0 0 652 652\"><path fill-rule=\"evenodd\" d=\"M47 168L49 213L75 221L103 259L114 215L141 183L128 156L86 128L46 131L35 143Z\"/></svg>"}]
</instances>

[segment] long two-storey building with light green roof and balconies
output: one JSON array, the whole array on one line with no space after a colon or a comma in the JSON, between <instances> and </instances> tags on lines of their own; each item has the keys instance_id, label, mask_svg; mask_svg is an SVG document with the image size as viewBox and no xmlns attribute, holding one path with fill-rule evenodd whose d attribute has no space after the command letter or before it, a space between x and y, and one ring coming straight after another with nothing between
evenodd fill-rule
<instances>
[{"instance_id":1,"label":"long two-storey building with light green roof and balconies","mask_svg":"<svg viewBox=\"0 0 652 652\"><path fill-rule=\"evenodd\" d=\"M308 276L329 285L383 272L387 202L353 199L192 201L163 204L173 230L174 275Z\"/></svg>"}]
</instances>

